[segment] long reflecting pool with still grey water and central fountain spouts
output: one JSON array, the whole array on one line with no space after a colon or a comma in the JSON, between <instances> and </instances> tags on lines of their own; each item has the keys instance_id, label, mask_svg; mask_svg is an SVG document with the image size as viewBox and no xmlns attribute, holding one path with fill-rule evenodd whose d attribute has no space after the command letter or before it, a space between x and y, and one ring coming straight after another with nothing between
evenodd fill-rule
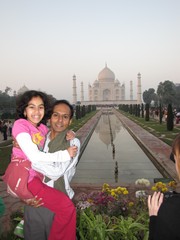
<instances>
[{"instance_id":1,"label":"long reflecting pool with still grey water and central fountain spouts","mask_svg":"<svg viewBox=\"0 0 180 240\"><path fill-rule=\"evenodd\" d=\"M161 178L121 121L110 111L101 116L84 150L73 183L134 183Z\"/></svg>"}]
</instances>

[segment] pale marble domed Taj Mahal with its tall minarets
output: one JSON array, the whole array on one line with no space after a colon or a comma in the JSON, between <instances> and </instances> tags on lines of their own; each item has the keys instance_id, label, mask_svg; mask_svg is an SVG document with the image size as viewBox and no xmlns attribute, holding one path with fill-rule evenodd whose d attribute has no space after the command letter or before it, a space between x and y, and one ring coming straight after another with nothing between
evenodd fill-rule
<instances>
[{"instance_id":1,"label":"pale marble domed Taj Mahal with its tall minarets","mask_svg":"<svg viewBox=\"0 0 180 240\"><path fill-rule=\"evenodd\" d=\"M73 104L77 103L76 76L73 75ZM84 100L84 86L81 82L80 103L82 105L94 104L141 104L141 74L137 74L137 97L133 99L133 82L130 81L129 99L126 98L125 84L115 78L114 72L105 67L99 72L97 80L88 85L88 101Z\"/></svg>"}]
</instances>

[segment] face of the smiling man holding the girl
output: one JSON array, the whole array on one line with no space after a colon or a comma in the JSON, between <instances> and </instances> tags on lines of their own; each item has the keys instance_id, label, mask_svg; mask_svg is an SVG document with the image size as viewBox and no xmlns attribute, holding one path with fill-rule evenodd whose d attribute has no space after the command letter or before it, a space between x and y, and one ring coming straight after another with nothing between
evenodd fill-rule
<instances>
[{"instance_id":1,"label":"face of the smiling man holding the girl","mask_svg":"<svg viewBox=\"0 0 180 240\"><path fill-rule=\"evenodd\" d=\"M64 104L58 104L54 107L53 114L50 118L51 131L58 134L64 131L71 124L70 108Z\"/></svg>"}]
</instances>

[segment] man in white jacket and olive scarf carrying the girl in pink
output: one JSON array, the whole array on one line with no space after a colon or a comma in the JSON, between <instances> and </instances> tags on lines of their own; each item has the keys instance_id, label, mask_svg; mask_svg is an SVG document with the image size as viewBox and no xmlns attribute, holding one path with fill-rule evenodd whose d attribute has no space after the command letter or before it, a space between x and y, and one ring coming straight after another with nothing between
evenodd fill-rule
<instances>
[{"instance_id":1,"label":"man in white jacket and olive scarf carrying the girl in pink","mask_svg":"<svg viewBox=\"0 0 180 240\"><path fill-rule=\"evenodd\" d=\"M67 149L68 146L78 147L78 153L72 161L64 163L33 164L33 168L43 173L48 186L63 191L71 199L74 191L70 181L75 174L78 161L80 142L77 138L67 141L68 127L72 122L73 107L66 100L56 101L50 117L50 132L47 135L44 151L55 152ZM58 179L58 180L57 180ZM60 203L61 204L61 203ZM38 204L37 204L38 205ZM47 208L25 206L24 212L24 237L26 240L47 240L51 229L54 214Z\"/></svg>"}]
</instances>

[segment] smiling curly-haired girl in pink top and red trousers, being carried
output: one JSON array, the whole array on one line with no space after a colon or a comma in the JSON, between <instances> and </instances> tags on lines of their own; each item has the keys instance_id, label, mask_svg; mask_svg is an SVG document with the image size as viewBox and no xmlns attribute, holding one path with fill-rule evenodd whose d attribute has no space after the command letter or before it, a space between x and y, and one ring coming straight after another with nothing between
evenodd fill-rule
<instances>
[{"instance_id":1,"label":"smiling curly-haired girl in pink top and red trousers, being carried","mask_svg":"<svg viewBox=\"0 0 180 240\"><path fill-rule=\"evenodd\" d=\"M43 149L48 132L43 124L48 117L48 107L48 97L40 91L31 90L20 96L17 101L17 120L12 129L12 136L17 142L12 149L12 160L52 163L67 161L76 155L77 147L74 146L55 153L38 150ZM44 207L55 213L48 240L75 240L76 211L72 201L64 193L45 185L41 174L32 168L29 170L28 190L42 199Z\"/></svg>"}]
</instances>

